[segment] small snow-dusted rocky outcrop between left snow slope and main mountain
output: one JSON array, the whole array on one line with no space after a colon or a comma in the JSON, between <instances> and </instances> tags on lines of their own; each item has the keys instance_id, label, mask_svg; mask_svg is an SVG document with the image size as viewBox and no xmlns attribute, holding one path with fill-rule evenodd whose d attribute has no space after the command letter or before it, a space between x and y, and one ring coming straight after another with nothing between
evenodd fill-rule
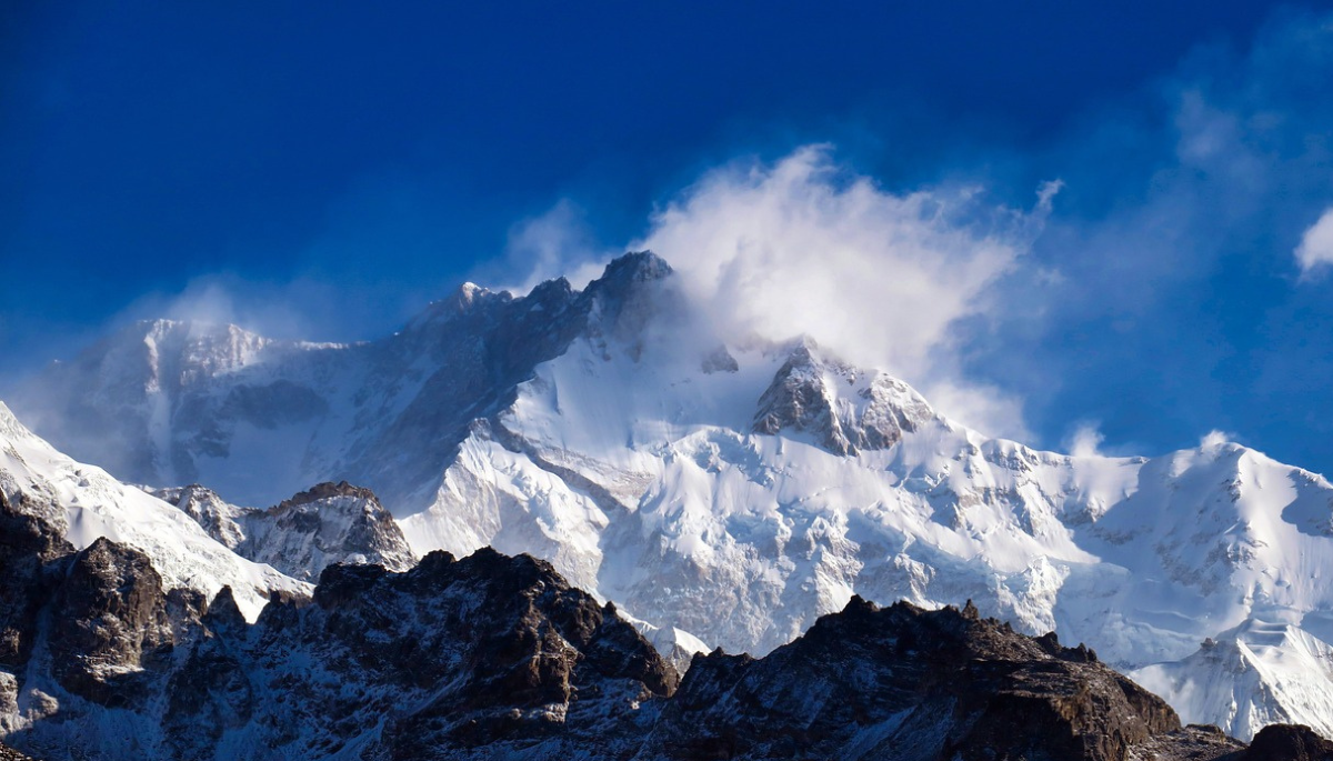
<instances>
[{"instance_id":1,"label":"small snow-dusted rocky outcrop between left snow slope and main mountain","mask_svg":"<svg viewBox=\"0 0 1333 761\"><path fill-rule=\"evenodd\" d=\"M335 562L407 570L416 556L393 516L369 489L347 481L319 484L267 510L239 508L197 484L159 489L217 541L255 562L315 581Z\"/></svg>"}]
</instances>

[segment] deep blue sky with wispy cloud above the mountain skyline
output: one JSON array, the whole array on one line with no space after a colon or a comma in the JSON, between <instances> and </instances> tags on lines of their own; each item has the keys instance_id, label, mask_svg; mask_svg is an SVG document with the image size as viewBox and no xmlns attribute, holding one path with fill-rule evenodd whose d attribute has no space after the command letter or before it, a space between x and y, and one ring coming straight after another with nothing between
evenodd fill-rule
<instances>
[{"instance_id":1,"label":"deep blue sky with wispy cloud above the mountain skyline","mask_svg":"<svg viewBox=\"0 0 1333 761\"><path fill-rule=\"evenodd\" d=\"M810 324L1038 445L1221 429L1333 472L1333 280L1294 253L1333 205L1317 7L473 5L8 4L4 377L160 313L375 337L464 279L713 252L705 201L817 207L772 261L892 291L866 236L940 207L904 235L962 303Z\"/></svg>"}]
</instances>

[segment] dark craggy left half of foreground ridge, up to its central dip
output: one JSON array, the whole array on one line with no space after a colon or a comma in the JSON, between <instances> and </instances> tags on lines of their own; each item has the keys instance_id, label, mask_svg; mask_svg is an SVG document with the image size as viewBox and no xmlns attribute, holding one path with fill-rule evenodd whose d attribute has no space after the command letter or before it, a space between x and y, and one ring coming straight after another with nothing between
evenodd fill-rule
<instances>
[{"instance_id":1,"label":"dark craggy left half of foreground ridge, up to its central dip","mask_svg":"<svg viewBox=\"0 0 1333 761\"><path fill-rule=\"evenodd\" d=\"M275 594L256 624L225 588L207 606L164 594L108 540L48 565L52 625L0 701L5 741L48 760L551 757L625 746L678 681L531 557L333 565L313 601Z\"/></svg>"}]
</instances>

